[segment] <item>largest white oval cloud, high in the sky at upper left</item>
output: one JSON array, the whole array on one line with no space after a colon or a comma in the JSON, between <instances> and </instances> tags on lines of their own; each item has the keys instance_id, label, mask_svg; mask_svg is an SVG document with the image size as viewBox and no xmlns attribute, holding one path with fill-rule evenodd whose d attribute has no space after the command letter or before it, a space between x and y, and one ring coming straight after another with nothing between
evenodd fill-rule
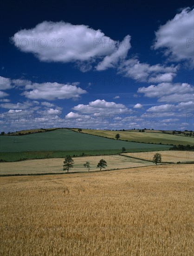
<instances>
[{"instance_id":1,"label":"largest white oval cloud, high in the sky at upper left","mask_svg":"<svg viewBox=\"0 0 194 256\"><path fill-rule=\"evenodd\" d=\"M107 55L115 62L118 55L126 55L130 47L130 44L119 47L120 42L105 36L99 29L63 21L43 21L34 28L18 31L12 40L21 51L34 54L40 61L64 63L95 61ZM103 66L107 66L107 60L105 62Z\"/></svg>"}]
</instances>

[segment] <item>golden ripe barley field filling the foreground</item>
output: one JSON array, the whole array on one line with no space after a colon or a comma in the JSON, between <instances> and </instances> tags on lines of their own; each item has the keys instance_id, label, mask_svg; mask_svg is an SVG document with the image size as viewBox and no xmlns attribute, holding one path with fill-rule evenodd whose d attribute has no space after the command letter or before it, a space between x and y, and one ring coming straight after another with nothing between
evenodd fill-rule
<instances>
[{"instance_id":1,"label":"golden ripe barley field filling the foreground","mask_svg":"<svg viewBox=\"0 0 194 256\"><path fill-rule=\"evenodd\" d=\"M192 256L194 166L0 177L2 256Z\"/></svg>"}]
</instances>

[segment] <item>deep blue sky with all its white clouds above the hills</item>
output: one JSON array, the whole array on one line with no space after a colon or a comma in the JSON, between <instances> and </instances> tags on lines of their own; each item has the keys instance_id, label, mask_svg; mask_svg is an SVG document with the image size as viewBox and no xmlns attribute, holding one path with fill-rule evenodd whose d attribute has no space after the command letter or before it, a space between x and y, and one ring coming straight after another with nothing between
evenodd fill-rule
<instances>
[{"instance_id":1,"label":"deep blue sky with all its white clouds above the hills","mask_svg":"<svg viewBox=\"0 0 194 256\"><path fill-rule=\"evenodd\" d=\"M4 1L1 131L193 130L193 1Z\"/></svg>"}]
</instances>

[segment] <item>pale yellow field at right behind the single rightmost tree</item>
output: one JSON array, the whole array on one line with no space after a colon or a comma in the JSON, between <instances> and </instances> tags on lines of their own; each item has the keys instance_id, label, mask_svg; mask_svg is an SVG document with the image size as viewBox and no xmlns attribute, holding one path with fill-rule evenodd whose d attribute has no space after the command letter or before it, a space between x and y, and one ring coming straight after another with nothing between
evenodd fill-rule
<instances>
[{"instance_id":1,"label":"pale yellow field at right behind the single rightmost tree","mask_svg":"<svg viewBox=\"0 0 194 256\"><path fill-rule=\"evenodd\" d=\"M194 151L153 151L153 152L138 152L124 153L123 155L136 157L145 160L153 160L155 153L162 155L162 162L194 162Z\"/></svg>"}]
</instances>

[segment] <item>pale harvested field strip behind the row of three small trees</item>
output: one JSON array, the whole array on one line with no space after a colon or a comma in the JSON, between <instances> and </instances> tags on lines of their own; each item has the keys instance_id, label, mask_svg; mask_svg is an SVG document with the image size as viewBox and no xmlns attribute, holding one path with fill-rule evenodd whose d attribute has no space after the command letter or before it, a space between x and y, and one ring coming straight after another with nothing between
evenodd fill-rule
<instances>
[{"instance_id":1,"label":"pale harvested field strip behind the row of three small trees","mask_svg":"<svg viewBox=\"0 0 194 256\"><path fill-rule=\"evenodd\" d=\"M86 161L91 162L91 170L97 171L97 163L100 159L104 159L107 162L106 169L122 169L131 167L140 167L153 165L153 163L130 159L129 157L121 155L101 155L101 156L84 156L75 157L74 167L69 169L69 172L85 172L84 163ZM39 160L26 160L20 162L1 162L0 174L40 174L40 173L64 173L63 171L64 158L51 158L51 159L39 159ZM104 169L103 169L104 170ZM65 171L66 172L66 171Z\"/></svg>"}]
</instances>

